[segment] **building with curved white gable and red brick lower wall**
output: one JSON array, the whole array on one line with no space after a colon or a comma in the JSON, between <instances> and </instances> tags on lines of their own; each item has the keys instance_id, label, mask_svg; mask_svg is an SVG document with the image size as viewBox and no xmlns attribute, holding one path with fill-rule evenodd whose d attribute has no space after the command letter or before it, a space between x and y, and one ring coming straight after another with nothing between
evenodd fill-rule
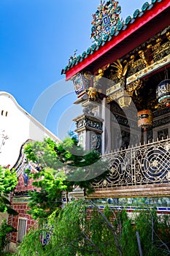
<instances>
[{"instance_id":1,"label":"building with curved white gable and red brick lower wall","mask_svg":"<svg viewBox=\"0 0 170 256\"><path fill-rule=\"evenodd\" d=\"M18 215L3 216L8 219L9 225L18 230L10 235L9 249L12 250L23 240L28 229L36 225L27 213L28 191L36 188L32 186L32 180L28 179L24 170L30 169L31 172L38 170L34 163L26 159L23 147L30 140L42 141L46 137L52 138L55 142L59 140L23 110L12 95L4 91L0 92L0 131L0 165L9 169L14 168L18 176L18 185L10 198L11 206Z\"/></svg>"}]
</instances>

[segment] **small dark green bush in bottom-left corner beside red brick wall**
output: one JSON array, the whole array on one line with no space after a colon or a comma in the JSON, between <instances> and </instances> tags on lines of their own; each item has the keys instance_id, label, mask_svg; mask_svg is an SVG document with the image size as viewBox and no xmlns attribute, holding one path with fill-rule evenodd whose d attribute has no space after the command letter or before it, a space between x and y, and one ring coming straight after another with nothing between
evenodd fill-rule
<instances>
[{"instance_id":1,"label":"small dark green bush in bottom-left corner beside red brick wall","mask_svg":"<svg viewBox=\"0 0 170 256\"><path fill-rule=\"evenodd\" d=\"M5 255L4 248L9 243L7 235L14 231L15 228L7 225L7 220L3 219L0 226L0 255Z\"/></svg>"}]
</instances>

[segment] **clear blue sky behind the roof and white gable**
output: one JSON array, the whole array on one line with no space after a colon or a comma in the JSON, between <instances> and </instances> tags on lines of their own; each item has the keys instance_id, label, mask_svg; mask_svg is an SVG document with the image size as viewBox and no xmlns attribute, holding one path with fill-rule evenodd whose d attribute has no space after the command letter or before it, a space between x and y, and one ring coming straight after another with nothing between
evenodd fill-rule
<instances>
[{"instance_id":1,"label":"clear blue sky behind the roof and white gable","mask_svg":"<svg viewBox=\"0 0 170 256\"><path fill-rule=\"evenodd\" d=\"M74 50L81 54L91 45L92 13L99 3L100 0L0 2L0 89L12 94L59 138L65 137L72 129L72 118L80 114L80 108L73 105L77 97L72 84L63 81L61 69ZM119 4L125 19L137 8L141 10L144 0L120 0Z\"/></svg>"}]
</instances>

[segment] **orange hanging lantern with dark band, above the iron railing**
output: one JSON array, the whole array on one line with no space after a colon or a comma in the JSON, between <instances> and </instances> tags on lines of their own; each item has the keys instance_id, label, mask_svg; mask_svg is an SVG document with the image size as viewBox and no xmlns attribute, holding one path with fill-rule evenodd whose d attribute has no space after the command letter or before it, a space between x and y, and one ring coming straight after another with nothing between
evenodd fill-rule
<instances>
[{"instance_id":1,"label":"orange hanging lantern with dark band, above the iron railing","mask_svg":"<svg viewBox=\"0 0 170 256\"><path fill-rule=\"evenodd\" d=\"M144 129L144 132L148 127L152 126L152 111L141 110L138 112L138 126Z\"/></svg>"}]
</instances>

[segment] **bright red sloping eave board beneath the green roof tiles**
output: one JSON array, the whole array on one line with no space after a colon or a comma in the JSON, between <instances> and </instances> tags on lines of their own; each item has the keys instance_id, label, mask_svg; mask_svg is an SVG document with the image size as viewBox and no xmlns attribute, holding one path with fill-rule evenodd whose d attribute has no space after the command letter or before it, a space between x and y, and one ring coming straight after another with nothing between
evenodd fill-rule
<instances>
[{"instance_id":1,"label":"bright red sloping eave board beneath the green roof tiles","mask_svg":"<svg viewBox=\"0 0 170 256\"><path fill-rule=\"evenodd\" d=\"M89 55L82 62L78 63L77 65L75 65L74 67L66 71L66 80L69 80L78 72L80 72L82 69L85 69L85 67L88 67L90 64L93 63L93 61L96 61L96 59L103 56L104 53L107 53L107 51L114 48L116 45L122 42L123 39L133 34L135 31L140 29L142 26L144 26L150 20L155 18L164 10L166 10L166 8L168 7L170 7L169 0L162 0L161 2L157 2L156 4L154 4L152 9L145 11L142 17L136 18L134 23L128 24L127 29L125 29L124 31L120 31L120 34L117 34L116 37L112 37L110 41L107 41L104 46L101 46L92 55Z\"/></svg>"}]
</instances>

